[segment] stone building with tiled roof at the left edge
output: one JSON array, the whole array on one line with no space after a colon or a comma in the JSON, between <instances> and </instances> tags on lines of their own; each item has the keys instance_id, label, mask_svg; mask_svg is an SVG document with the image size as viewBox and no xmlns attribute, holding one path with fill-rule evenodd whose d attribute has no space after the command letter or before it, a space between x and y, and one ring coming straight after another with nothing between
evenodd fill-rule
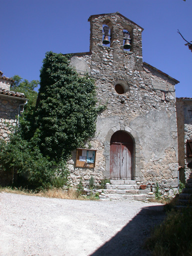
<instances>
[{"instance_id":1,"label":"stone building with tiled roof at the left edge","mask_svg":"<svg viewBox=\"0 0 192 256\"><path fill-rule=\"evenodd\" d=\"M8 140L10 125L15 126L17 116L23 111L26 98L23 93L10 91L13 79L2 76L0 71L0 138Z\"/></svg>"}]
</instances>

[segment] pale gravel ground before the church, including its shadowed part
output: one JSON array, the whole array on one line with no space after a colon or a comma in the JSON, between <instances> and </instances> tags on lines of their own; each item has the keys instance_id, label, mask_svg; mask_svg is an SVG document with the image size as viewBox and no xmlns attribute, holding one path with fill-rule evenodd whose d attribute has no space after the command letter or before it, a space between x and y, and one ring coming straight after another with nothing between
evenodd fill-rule
<instances>
[{"instance_id":1,"label":"pale gravel ground before the church, including its shadowed part","mask_svg":"<svg viewBox=\"0 0 192 256\"><path fill-rule=\"evenodd\" d=\"M141 245L162 204L0 193L0 255L150 255Z\"/></svg>"}]
</instances>

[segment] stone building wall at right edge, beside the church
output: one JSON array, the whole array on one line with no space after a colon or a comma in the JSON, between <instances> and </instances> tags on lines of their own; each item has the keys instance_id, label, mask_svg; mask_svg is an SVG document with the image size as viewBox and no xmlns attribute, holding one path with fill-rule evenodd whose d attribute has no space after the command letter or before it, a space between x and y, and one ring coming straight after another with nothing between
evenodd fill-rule
<instances>
[{"instance_id":1,"label":"stone building wall at right edge, beside the church","mask_svg":"<svg viewBox=\"0 0 192 256\"><path fill-rule=\"evenodd\" d=\"M192 139L192 99L177 98L177 127L178 127L178 161L180 167L181 181L185 182L191 169L187 167L187 163L192 160L192 157L187 157L186 142L187 139Z\"/></svg>"}]
</instances>

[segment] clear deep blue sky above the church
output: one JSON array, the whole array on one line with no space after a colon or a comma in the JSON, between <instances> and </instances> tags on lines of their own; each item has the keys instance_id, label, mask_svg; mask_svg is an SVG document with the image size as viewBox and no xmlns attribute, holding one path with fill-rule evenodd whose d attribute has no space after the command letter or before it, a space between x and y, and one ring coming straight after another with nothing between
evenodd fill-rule
<instances>
[{"instance_id":1,"label":"clear deep blue sky above the church","mask_svg":"<svg viewBox=\"0 0 192 256\"><path fill-rule=\"evenodd\" d=\"M0 0L0 70L39 79L45 52L89 51L92 14L119 11L144 28L143 61L180 81L177 97L192 97L192 1L186 0Z\"/></svg>"}]
</instances>

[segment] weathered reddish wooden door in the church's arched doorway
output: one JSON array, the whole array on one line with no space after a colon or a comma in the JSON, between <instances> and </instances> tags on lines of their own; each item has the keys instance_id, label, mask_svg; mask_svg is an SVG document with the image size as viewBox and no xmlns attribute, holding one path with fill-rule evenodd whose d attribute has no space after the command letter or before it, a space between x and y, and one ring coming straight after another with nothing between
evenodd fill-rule
<instances>
[{"instance_id":1,"label":"weathered reddish wooden door in the church's arched doorway","mask_svg":"<svg viewBox=\"0 0 192 256\"><path fill-rule=\"evenodd\" d=\"M110 139L110 179L132 179L133 140L125 131Z\"/></svg>"}]
</instances>

